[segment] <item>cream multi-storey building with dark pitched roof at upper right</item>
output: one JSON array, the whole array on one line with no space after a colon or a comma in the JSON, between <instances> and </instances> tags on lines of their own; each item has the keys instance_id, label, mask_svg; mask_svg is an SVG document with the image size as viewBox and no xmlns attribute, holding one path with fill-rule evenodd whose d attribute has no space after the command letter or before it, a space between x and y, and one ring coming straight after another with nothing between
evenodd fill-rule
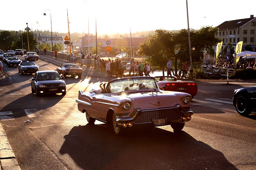
<instances>
[{"instance_id":1,"label":"cream multi-storey building with dark pitched roof at upper right","mask_svg":"<svg viewBox=\"0 0 256 170\"><path fill-rule=\"evenodd\" d=\"M243 41L243 48L251 45L256 51L256 17L254 15L249 18L225 21L217 27L223 45L231 43L235 46L237 42Z\"/></svg>"}]
</instances>

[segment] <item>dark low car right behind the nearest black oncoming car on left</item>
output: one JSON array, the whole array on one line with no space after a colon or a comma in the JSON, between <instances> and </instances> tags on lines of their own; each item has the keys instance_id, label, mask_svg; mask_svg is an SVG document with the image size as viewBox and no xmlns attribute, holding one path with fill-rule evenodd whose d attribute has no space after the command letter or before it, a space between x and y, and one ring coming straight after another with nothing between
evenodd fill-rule
<instances>
[{"instance_id":1,"label":"dark low car right behind the nearest black oncoming car on left","mask_svg":"<svg viewBox=\"0 0 256 170\"><path fill-rule=\"evenodd\" d=\"M39 67L36 63L32 61L23 61L21 62L21 64L19 64L18 69L19 69L19 73L21 74L24 74L24 73L33 74L39 70Z\"/></svg>"}]
</instances>

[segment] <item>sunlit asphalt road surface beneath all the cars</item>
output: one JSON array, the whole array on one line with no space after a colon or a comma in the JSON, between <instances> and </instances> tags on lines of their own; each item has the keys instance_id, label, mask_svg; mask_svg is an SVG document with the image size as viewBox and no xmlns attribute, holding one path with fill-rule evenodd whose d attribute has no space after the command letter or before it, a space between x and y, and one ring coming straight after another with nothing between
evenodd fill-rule
<instances>
[{"instance_id":1,"label":"sunlit asphalt road surface beneath all the cars","mask_svg":"<svg viewBox=\"0 0 256 170\"><path fill-rule=\"evenodd\" d=\"M57 67L35 63L40 70ZM134 127L116 136L104 123L89 125L75 103L78 90L98 89L107 79L68 77L65 96L36 97L32 75L18 74L16 67L4 70L0 119L21 170L256 169L256 114L240 116L232 105L234 89L255 82L198 82L195 114L179 134L164 126Z\"/></svg>"}]
</instances>

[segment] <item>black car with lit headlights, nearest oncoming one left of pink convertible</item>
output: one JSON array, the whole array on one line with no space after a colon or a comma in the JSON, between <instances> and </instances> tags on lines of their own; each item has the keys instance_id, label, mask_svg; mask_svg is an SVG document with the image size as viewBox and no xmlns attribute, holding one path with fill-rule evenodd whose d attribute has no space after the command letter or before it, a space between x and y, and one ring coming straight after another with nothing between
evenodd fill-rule
<instances>
[{"instance_id":1,"label":"black car with lit headlights, nearest oncoming one left of pink convertible","mask_svg":"<svg viewBox=\"0 0 256 170\"><path fill-rule=\"evenodd\" d=\"M66 94L66 83L57 71L37 71L31 80L31 92L36 96L46 93Z\"/></svg>"}]
</instances>

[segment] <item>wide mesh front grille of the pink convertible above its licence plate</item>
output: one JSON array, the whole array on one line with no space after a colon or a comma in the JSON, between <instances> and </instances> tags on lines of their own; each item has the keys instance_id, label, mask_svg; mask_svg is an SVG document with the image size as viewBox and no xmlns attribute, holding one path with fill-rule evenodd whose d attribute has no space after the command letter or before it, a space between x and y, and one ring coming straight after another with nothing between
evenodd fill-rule
<instances>
[{"instance_id":1,"label":"wide mesh front grille of the pink convertible above its licence plate","mask_svg":"<svg viewBox=\"0 0 256 170\"><path fill-rule=\"evenodd\" d=\"M181 114L179 114L176 108L168 108L168 109L159 109L159 110L147 110L143 111L142 114L138 115L133 122L134 123L150 123L152 119L167 119L175 120L181 118Z\"/></svg>"}]
</instances>

